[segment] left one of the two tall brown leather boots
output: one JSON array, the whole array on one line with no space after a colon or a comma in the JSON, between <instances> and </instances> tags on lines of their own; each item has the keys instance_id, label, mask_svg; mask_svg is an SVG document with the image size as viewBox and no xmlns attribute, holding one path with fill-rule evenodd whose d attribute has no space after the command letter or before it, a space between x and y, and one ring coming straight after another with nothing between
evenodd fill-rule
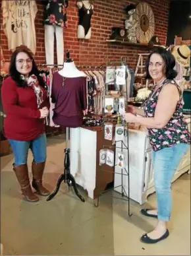
<instances>
[{"instance_id":1,"label":"left one of the two tall brown leather boots","mask_svg":"<svg viewBox=\"0 0 191 256\"><path fill-rule=\"evenodd\" d=\"M28 166L27 164L21 164L20 166L13 165L14 173L20 184L22 195L26 197L29 202L38 202L39 198L32 192L30 186L30 179L28 177Z\"/></svg>"}]
</instances>

